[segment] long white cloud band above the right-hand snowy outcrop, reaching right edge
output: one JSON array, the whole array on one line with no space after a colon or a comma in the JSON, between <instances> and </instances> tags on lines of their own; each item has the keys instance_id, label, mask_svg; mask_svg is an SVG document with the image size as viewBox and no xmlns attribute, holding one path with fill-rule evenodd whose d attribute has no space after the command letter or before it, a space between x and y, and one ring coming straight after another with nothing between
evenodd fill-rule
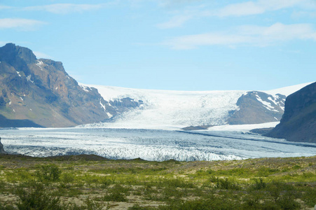
<instances>
[{"instance_id":1,"label":"long white cloud band above the right-hand snowy outcrop, reaching right edge","mask_svg":"<svg viewBox=\"0 0 316 210\"><path fill-rule=\"evenodd\" d=\"M188 50L205 45L254 45L264 47L292 40L316 41L316 30L309 24L283 25L276 23L270 27L245 25L231 31L216 31L207 34L178 36L162 43L172 49Z\"/></svg>"}]
</instances>

